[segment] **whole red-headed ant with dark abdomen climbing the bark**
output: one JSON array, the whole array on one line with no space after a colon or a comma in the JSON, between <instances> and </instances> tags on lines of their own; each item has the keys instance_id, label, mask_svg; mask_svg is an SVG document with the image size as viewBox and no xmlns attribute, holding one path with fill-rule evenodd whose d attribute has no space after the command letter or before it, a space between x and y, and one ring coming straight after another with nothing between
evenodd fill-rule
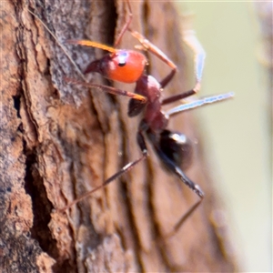
<instances>
[{"instance_id":1,"label":"whole red-headed ant with dark abdomen climbing the bark","mask_svg":"<svg viewBox=\"0 0 273 273\"><path fill-rule=\"evenodd\" d=\"M218 101L231 98L233 93L221 94L217 96L209 96L201 99L197 99L186 104L171 108L167 112L162 110L162 106L176 102L177 100L187 98L188 96L193 96L197 94L200 88L200 82L203 72L205 52L202 46L197 41L197 37L194 32L187 32L184 40L187 45L189 45L195 53L195 72L196 72L196 85L193 89L183 92L176 96L169 96L165 99L161 98L162 89L167 86L171 81L173 76L177 72L177 66L159 49L156 45L150 43L143 35L140 35L136 31L132 31L129 28L131 24L133 14L131 10L131 5L129 0L126 0L128 6L129 17L126 24L123 26L120 34L117 36L116 43L114 47L102 45L93 41L87 40L68 40L67 43L74 45L86 45L100 48L109 52L106 56L91 62L87 67L84 74L97 72L108 79L123 82L123 83L136 83L135 93L127 92L125 90L117 89L111 86L101 86L96 84L89 84L79 82L73 79L66 79L72 84L80 84L83 86L91 86L100 88L107 93L114 95L128 96L130 101L128 104L127 115L130 117L138 116L143 113L143 118L139 123L138 130L136 133L136 142L138 147L140 147L142 156L135 161L130 162L125 167L122 167L115 175L106 179L106 181L99 187L94 188L91 191L86 192L81 197L77 197L73 202L68 204L66 207L60 209L60 211L65 211L67 208L72 207L80 200L90 196L96 190L106 187L110 182L114 181L117 177L123 175L126 171L135 167L139 162L147 158L147 145L145 136L150 141L154 147L157 156L160 158L161 162L167 170L171 173L177 175L180 180L187 185L192 191L194 191L199 200L197 203L191 207L187 213L181 217L177 222L173 231L170 233L172 235L189 217L193 211L198 207L204 197L204 193L201 188L195 184L191 179L189 179L183 172L183 163L185 164L185 157L190 157L190 142L187 136L170 131L167 129L168 120L170 116L174 116L183 111L187 111L198 106L203 106ZM127 49L117 49L122 36L126 31L130 31L131 34L136 37L140 42L141 48L148 50L158 58L160 58L167 66L170 66L170 73L165 76L160 82L156 78L144 73L145 66L147 66L147 58L143 54L135 50Z\"/></svg>"}]
</instances>

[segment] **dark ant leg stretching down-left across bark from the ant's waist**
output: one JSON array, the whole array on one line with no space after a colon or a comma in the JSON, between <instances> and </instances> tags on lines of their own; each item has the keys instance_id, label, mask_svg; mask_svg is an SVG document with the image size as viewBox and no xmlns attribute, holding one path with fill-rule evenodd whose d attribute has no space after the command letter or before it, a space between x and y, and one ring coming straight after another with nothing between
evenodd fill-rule
<instances>
[{"instance_id":1,"label":"dark ant leg stretching down-left across bark from the ant's waist","mask_svg":"<svg viewBox=\"0 0 273 273\"><path fill-rule=\"evenodd\" d=\"M94 188L94 189L86 192L81 197L77 197L74 201L72 201L71 203L69 203L68 205L66 205L66 207L60 208L58 210L60 212L66 211L67 208L76 205L76 203L78 203L79 201L85 199L86 197L89 197L94 192L96 192L98 189L106 187L106 185L108 185L111 182L113 182L114 180L116 180L116 178L121 177L124 173L126 173L127 171L129 171L130 169L132 169L133 167L135 167L140 161L146 159L147 158L147 146L146 146L145 139L144 139L144 136L142 134L142 131L139 130L137 132L136 140L137 140L138 146L141 149L142 157L139 157L135 161L128 163L125 167L123 167L121 170L119 170L115 175L113 175L112 177L109 177L108 179L106 179L106 181L102 185L100 185L100 186L98 186L98 187L96 187L96 188Z\"/></svg>"}]
</instances>

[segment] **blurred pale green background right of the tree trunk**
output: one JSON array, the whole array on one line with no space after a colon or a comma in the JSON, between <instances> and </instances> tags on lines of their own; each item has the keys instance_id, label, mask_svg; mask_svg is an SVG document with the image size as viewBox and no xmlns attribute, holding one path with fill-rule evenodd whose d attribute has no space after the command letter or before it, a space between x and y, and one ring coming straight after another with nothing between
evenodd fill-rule
<instances>
[{"instance_id":1,"label":"blurred pale green background right of the tree trunk","mask_svg":"<svg viewBox=\"0 0 273 273\"><path fill-rule=\"evenodd\" d=\"M273 24L273 4L176 5L184 15L185 11L193 15L193 28L207 52L200 96L235 92L233 100L204 107L197 115L239 265L245 272L272 272L272 50L271 56L270 50L264 51L267 29L259 19L266 15L259 17L258 12L267 14L268 24ZM273 31L272 25L268 30Z\"/></svg>"}]
</instances>

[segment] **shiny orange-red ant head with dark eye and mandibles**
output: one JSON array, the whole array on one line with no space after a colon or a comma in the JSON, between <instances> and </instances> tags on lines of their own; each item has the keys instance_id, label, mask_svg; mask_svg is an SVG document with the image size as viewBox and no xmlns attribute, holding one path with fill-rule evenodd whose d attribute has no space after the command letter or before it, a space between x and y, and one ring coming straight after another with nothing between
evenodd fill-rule
<instances>
[{"instance_id":1,"label":"shiny orange-red ant head with dark eye and mandibles","mask_svg":"<svg viewBox=\"0 0 273 273\"><path fill-rule=\"evenodd\" d=\"M111 80L135 83L143 74L147 58L133 50L116 50L86 67L85 74L97 72Z\"/></svg>"}]
</instances>

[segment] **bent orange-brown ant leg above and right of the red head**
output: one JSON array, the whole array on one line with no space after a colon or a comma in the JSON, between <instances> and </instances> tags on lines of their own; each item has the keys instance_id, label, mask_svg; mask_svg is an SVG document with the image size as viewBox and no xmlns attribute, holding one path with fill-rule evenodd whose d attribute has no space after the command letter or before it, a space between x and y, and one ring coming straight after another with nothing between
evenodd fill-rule
<instances>
[{"instance_id":1,"label":"bent orange-brown ant leg above and right of the red head","mask_svg":"<svg viewBox=\"0 0 273 273\"><path fill-rule=\"evenodd\" d=\"M160 86L162 88L164 88L165 86L167 86L167 84L170 82L170 80L173 78L173 76L175 76L175 74L177 73L177 66L156 45L154 45L150 41L148 41L145 36L141 35L140 33L136 32L136 31L133 31L133 30L130 30L130 32L142 45L142 47L140 49L148 50L153 55L157 56L160 60L162 60L164 63L166 63L167 66L170 66L172 68L171 72L159 83ZM138 46L136 45L136 48L137 47Z\"/></svg>"}]
</instances>

